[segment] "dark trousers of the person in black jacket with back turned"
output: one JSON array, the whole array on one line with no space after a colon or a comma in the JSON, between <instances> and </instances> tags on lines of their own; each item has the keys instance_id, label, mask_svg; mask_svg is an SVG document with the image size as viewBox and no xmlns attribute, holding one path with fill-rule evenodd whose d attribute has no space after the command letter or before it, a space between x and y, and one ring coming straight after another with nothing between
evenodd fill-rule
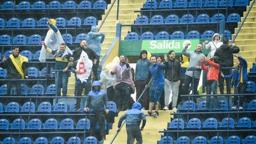
<instances>
[{"instance_id":1,"label":"dark trousers of the person in black jacket with back turned","mask_svg":"<svg viewBox=\"0 0 256 144\"><path fill-rule=\"evenodd\" d=\"M230 69L223 69L220 68L220 71L224 74L224 76L230 75ZM220 73L221 74L221 73ZM220 87L220 93L224 94L224 77L221 77L219 74L219 87ZM227 86L227 94L230 94L230 79L225 79L226 86Z\"/></svg>"}]
</instances>

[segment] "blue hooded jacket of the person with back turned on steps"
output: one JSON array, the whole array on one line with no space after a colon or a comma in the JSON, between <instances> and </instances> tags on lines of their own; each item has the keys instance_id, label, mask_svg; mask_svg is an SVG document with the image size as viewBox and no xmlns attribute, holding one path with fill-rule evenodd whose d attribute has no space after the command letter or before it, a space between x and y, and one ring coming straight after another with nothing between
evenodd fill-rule
<instances>
[{"instance_id":1,"label":"blue hooded jacket of the person with back turned on steps","mask_svg":"<svg viewBox=\"0 0 256 144\"><path fill-rule=\"evenodd\" d=\"M123 120L126 119L126 127L140 127L141 120L142 128L146 125L146 116L141 112L141 104L134 102L132 109L128 110L127 113L121 116L118 122L118 128L121 127Z\"/></svg>"}]
</instances>

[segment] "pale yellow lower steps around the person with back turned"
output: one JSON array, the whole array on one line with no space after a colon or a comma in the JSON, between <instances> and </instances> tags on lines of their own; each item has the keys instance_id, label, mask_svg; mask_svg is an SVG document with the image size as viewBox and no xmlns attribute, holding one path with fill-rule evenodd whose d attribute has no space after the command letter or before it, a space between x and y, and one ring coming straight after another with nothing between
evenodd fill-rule
<instances>
[{"instance_id":1,"label":"pale yellow lower steps around the person with back turned","mask_svg":"<svg viewBox=\"0 0 256 144\"><path fill-rule=\"evenodd\" d=\"M110 141L113 139L113 137L116 134L117 131L117 125L119 118L124 115L126 111L121 111L118 113L118 117L115 117L115 123L113 124L113 129L109 130L109 134L106 135L106 141L104 141L104 144L109 144ZM143 111L143 113L147 114L147 111ZM143 143L147 144L156 144L157 140L161 139L161 133L159 131L163 131L166 129L168 122L170 122L170 113L173 113L173 111L159 111L159 116L157 118L155 117L146 117L147 123L144 127L144 130L141 132L142 134L142 140ZM127 141L127 134L126 134L126 128L125 125L116 136L115 141L113 144L124 144ZM136 142L134 142L136 143Z\"/></svg>"}]
</instances>

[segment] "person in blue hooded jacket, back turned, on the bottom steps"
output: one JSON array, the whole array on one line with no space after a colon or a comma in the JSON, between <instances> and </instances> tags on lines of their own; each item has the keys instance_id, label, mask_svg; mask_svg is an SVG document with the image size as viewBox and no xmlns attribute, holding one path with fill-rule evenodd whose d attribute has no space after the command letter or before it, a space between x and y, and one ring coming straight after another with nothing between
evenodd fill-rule
<instances>
[{"instance_id":1,"label":"person in blue hooded jacket, back turned, on the bottom steps","mask_svg":"<svg viewBox=\"0 0 256 144\"><path fill-rule=\"evenodd\" d=\"M122 122L126 119L126 132L127 132L127 144L133 144L136 139L136 144L142 143L141 131L143 131L146 125L146 116L141 112L140 102L134 102L132 109L128 110L127 113L121 116L118 122L118 132ZM142 122L141 128L140 123Z\"/></svg>"}]
</instances>

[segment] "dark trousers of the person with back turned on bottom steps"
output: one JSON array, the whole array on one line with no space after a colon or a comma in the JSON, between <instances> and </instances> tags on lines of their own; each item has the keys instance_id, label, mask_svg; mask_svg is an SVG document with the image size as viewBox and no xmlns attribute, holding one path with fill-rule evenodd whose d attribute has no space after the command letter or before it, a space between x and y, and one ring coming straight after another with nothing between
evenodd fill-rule
<instances>
[{"instance_id":1,"label":"dark trousers of the person with back turned on bottom steps","mask_svg":"<svg viewBox=\"0 0 256 144\"><path fill-rule=\"evenodd\" d=\"M140 127L127 127L127 144L134 144L134 140L136 139L136 144L142 143L142 136Z\"/></svg>"}]
</instances>

